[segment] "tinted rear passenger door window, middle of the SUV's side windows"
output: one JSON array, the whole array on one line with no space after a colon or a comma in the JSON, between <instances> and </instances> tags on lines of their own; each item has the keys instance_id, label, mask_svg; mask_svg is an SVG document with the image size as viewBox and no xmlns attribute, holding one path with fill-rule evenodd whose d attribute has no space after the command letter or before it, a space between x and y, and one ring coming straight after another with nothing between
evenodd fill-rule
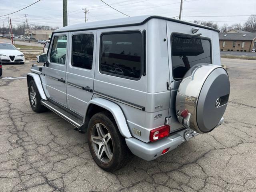
<instances>
[{"instance_id":1,"label":"tinted rear passenger door window, middle of the SUV's side windows","mask_svg":"<svg viewBox=\"0 0 256 192\"><path fill-rule=\"evenodd\" d=\"M92 69L93 34L79 34L72 37L72 66Z\"/></svg>"}]
</instances>

